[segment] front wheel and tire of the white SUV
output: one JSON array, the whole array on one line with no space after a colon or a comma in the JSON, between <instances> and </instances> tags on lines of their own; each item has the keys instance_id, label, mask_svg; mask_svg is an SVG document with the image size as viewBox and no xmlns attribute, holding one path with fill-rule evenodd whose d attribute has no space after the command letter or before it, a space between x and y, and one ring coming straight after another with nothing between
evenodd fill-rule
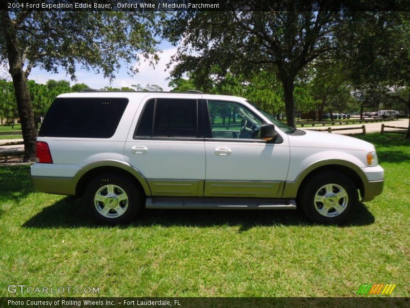
<instances>
[{"instance_id":1,"label":"front wheel and tire of the white SUV","mask_svg":"<svg viewBox=\"0 0 410 308\"><path fill-rule=\"evenodd\" d=\"M359 203L354 182L337 171L324 171L308 179L298 196L306 217L321 224L342 224L349 220Z\"/></svg>"}]
</instances>

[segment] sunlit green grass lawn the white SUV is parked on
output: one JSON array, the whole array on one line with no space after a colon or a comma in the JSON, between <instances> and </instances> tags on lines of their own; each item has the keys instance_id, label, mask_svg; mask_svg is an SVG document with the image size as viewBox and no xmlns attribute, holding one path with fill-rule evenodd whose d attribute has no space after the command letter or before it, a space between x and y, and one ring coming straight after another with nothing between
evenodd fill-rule
<instances>
[{"instance_id":1,"label":"sunlit green grass lawn the white SUV is parked on","mask_svg":"<svg viewBox=\"0 0 410 308\"><path fill-rule=\"evenodd\" d=\"M69 198L34 192L28 166L0 166L0 296L25 284L99 287L94 296L344 297L395 283L392 296L408 297L410 142L359 138L376 145L385 187L343 227L232 210L146 210L132 225L100 227Z\"/></svg>"}]
</instances>

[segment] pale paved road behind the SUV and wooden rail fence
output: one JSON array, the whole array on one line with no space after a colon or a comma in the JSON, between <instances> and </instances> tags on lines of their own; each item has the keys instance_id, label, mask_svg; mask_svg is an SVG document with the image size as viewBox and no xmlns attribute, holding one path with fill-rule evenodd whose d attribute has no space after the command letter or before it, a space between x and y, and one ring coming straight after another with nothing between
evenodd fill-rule
<instances>
[{"instance_id":1,"label":"pale paved road behind the SUV and wooden rail fence","mask_svg":"<svg viewBox=\"0 0 410 308\"><path fill-rule=\"evenodd\" d=\"M353 125L335 125L335 126L314 126L314 127L299 127L301 129L327 129L327 127L332 128L348 128L348 127L361 127L362 125L366 126L366 132L379 132L381 129L381 124L385 123L390 126L399 126L399 127L408 127L408 119L400 119L395 121L387 122L377 122L377 123L366 123L366 124L353 124ZM389 128L386 128L388 130ZM360 133L362 129L352 129L352 130L337 130L332 133L340 134L349 134L349 133ZM8 142L17 142L23 141L23 139L9 139L9 140L0 140L0 155L2 154L12 154L18 152L24 152L23 145L4 145Z\"/></svg>"}]
</instances>

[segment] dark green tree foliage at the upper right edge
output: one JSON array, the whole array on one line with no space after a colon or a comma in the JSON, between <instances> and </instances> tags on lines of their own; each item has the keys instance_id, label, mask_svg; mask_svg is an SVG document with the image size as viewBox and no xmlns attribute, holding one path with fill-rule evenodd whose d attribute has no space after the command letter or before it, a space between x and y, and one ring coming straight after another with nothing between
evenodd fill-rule
<instances>
[{"instance_id":1,"label":"dark green tree foliage at the upper right edge","mask_svg":"<svg viewBox=\"0 0 410 308\"><path fill-rule=\"evenodd\" d=\"M352 12L340 31L340 53L353 85L410 112L410 13Z\"/></svg>"}]
</instances>

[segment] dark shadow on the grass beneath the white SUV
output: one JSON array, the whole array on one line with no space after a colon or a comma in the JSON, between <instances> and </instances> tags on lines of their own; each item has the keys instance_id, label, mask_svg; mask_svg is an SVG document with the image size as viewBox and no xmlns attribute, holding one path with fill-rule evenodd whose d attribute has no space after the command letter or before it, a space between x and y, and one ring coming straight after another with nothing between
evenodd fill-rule
<instances>
[{"instance_id":1,"label":"dark shadow on the grass beneath the white SUV","mask_svg":"<svg viewBox=\"0 0 410 308\"><path fill-rule=\"evenodd\" d=\"M374 216L364 204L360 203L355 218L343 227L369 225L374 221ZM121 227L212 227L223 225L240 226L239 232L244 232L256 226L312 226L315 224L305 219L296 210L147 209L133 223ZM44 208L25 222L23 227L97 228L100 226L90 221L84 206L67 197Z\"/></svg>"}]
</instances>

